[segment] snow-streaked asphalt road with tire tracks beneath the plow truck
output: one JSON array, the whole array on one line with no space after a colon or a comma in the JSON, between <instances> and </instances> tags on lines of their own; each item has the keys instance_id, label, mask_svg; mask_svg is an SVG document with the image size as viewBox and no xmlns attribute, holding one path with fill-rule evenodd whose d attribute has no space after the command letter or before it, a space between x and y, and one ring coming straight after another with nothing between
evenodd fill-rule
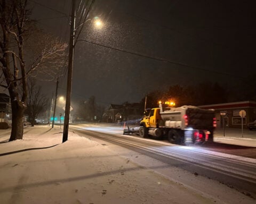
<instances>
[{"instance_id":1,"label":"snow-streaked asphalt road with tire tracks beneath the plow truck","mask_svg":"<svg viewBox=\"0 0 256 204\"><path fill-rule=\"evenodd\" d=\"M245 152L255 155L255 148L214 144L209 146L184 147L172 145L165 141L155 141L139 137L122 135L115 129L84 126L72 126L77 134L99 140L102 145L114 144L141 155L155 159L169 168L180 168L194 175L201 175L209 180L225 184L230 188L256 198L256 163L246 156ZM238 154L222 154L220 152L235 152ZM239 155L239 156L235 156ZM186 182L186 181L183 181Z\"/></svg>"}]
</instances>

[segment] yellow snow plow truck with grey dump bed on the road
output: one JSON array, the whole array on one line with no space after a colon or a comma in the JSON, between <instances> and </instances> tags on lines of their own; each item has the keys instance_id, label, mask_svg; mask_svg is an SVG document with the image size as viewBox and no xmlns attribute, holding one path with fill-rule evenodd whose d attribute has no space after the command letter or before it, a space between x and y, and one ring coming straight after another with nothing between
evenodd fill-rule
<instances>
[{"instance_id":1,"label":"yellow snow plow truck with grey dump bed on the road","mask_svg":"<svg viewBox=\"0 0 256 204\"><path fill-rule=\"evenodd\" d=\"M145 111L140 126L124 129L124 134L137 133L143 138L167 138L177 145L213 141L216 126L213 109L196 106L163 107Z\"/></svg>"}]
</instances>

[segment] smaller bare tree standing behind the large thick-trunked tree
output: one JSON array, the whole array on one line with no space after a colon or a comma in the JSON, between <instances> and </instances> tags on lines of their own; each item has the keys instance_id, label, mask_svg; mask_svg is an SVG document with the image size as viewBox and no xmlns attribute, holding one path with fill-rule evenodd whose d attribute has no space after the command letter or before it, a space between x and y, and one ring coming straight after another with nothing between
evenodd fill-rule
<instances>
[{"instance_id":1,"label":"smaller bare tree standing behind the large thick-trunked tree","mask_svg":"<svg viewBox=\"0 0 256 204\"><path fill-rule=\"evenodd\" d=\"M42 94L41 88L41 86L36 84L35 80L28 80L26 113L28 114L31 126L34 126L36 118L39 114L45 111L48 105L48 99Z\"/></svg>"}]
</instances>

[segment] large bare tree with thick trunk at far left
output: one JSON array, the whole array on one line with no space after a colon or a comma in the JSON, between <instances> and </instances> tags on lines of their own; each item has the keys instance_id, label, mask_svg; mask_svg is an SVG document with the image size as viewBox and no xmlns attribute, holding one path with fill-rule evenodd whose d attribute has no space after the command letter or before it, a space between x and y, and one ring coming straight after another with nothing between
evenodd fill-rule
<instances>
[{"instance_id":1,"label":"large bare tree with thick trunk at far left","mask_svg":"<svg viewBox=\"0 0 256 204\"><path fill-rule=\"evenodd\" d=\"M62 67L67 44L56 39L38 45L31 63L25 61L25 44L31 35L31 11L27 0L0 0L0 86L9 91L12 107L12 131L10 140L23 137L23 114L27 107L29 74L49 73L45 70ZM33 27L32 27L33 28ZM59 57L62 57L62 60ZM57 62L56 62L57 60ZM57 66L57 67L56 67ZM51 67L51 69L48 69Z\"/></svg>"}]
</instances>

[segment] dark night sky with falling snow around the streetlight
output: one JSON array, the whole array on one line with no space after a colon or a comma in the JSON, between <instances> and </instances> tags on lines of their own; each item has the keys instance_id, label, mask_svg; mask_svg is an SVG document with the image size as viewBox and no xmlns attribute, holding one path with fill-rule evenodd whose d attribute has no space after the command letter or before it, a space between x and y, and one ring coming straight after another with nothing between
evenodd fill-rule
<instances>
[{"instance_id":1,"label":"dark night sky with falling snow around the streetlight","mask_svg":"<svg viewBox=\"0 0 256 204\"><path fill-rule=\"evenodd\" d=\"M29 2L38 26L68 42L62 13L69 14L71 1ZM244 84L256 74L254 2L95 0L75 48L71 98L121 104L174 84ZM101 29L92 26L96 16ZM62 95L66 83L62 78ZM53 92L54 83L47 84Z\"/></svg>"}]
</instances>

